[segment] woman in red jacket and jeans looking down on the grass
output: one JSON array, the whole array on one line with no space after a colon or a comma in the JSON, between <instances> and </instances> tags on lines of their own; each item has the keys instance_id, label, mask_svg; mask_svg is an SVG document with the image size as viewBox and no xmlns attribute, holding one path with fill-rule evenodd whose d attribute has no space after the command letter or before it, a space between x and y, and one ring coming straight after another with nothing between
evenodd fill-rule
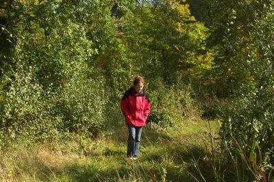
<instances>
[{"instance_id":1,"label":"woman in red jacket and jeans looking down on the grass","mask_svg":"<svg viewBox=\"0 0 274 182\"><path fill-rule=\"evenodd\" d=\"M121 111L129 131L127 157L131 159L137 159L139 156L142 127L147 124L147 117L151 111L149 97L144 87L144 78L136 76L133 86L125 91L121 100Z\"/></svg>"}]
</instances>

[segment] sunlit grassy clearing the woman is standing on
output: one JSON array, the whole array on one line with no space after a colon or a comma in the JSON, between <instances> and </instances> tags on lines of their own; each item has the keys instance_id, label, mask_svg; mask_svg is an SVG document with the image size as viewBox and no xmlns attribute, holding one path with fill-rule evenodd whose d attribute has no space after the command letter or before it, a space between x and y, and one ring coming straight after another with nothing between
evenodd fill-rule
<instances>
[{"instance_id":1,"label":"sunlit grassy clearing the woman is standing on","mask_svg":"<svg viewBox=\"0 0 274 182\"><path fill-rule=\"evenodd\" d=\"M206 121L161 132L145 128L134 161L125 157L126 139L123 126L108 139L2 151L0 181L214 181Z\"/></svg>"}]
</instances>

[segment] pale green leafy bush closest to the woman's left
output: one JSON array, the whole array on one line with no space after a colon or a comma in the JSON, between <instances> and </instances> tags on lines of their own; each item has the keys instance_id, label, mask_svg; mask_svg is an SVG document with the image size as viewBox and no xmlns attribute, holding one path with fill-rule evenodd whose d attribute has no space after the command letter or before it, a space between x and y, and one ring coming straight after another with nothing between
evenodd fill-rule
<instances>
[{"instance_id":1,"label":"pale green leafy bush closest to the woman's left","mask_svg":"<svg viewBox=\"0 0 274 182\"><path fill-rule=\"evenodd\" d=\"M60 88L60 98L55 111L62 116L59 130L79 134L98 135L105 128L105 94L104 79L71 78Z\"/></svg>"}]
</instances>

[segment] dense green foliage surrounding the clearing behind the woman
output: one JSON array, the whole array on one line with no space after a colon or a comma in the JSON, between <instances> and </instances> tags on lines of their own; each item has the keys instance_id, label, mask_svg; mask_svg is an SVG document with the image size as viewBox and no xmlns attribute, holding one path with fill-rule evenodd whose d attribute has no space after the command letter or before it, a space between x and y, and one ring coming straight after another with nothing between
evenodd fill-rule
<instances>
[{"instance_id":1,"label":"dense green foliage surrounding the clearing behind the woman","mask_svg":"<svg viewBox=\"0 0 274 182\"><path fill-rule=\"evenodd\" d=\"M1 146L110 134L123 124L123 92L142 75L151 128L218 117L232 181L273 180L273 8L270 0L0 1Z\"/></svg>"}]
</instances>

